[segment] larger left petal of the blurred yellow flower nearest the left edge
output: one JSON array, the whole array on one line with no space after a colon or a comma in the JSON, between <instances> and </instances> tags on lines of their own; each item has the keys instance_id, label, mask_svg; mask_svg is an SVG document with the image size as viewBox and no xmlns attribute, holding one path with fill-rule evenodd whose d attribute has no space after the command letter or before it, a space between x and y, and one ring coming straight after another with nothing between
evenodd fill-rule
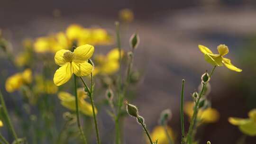
<instances>
[{"instance_id":1,"label":"larger left petal of the blurred yellow flower nearest the left edge","mask_svg":"<svg viewBox=\"0 0 256 144\"><path fill-rule=\"evenodd\" d=\"M23 83L22 81L23 80L21 73L17 73L15 75L10 76L9 78L7 78L5 82L6 91L13 92L15 90L18 90Z\"/></svg>"}]
</instances>

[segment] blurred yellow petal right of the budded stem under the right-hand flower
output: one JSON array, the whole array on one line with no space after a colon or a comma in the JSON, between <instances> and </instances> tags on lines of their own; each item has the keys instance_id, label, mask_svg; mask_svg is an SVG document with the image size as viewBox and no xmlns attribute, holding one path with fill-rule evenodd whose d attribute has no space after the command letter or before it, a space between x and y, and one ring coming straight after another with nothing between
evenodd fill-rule
<instances>
[{"instance_id":1,"label":"blurred yellow petal right of the budded stem under the right-hand flower","mask_svg":"<svg viewBox=\"0 0 256 144\"><path fill-rule=\"evenodd\" d=\"M199 117L205 123L214 123L219 120L219 112L214 108L206 108Z\"/></svg>"}]
</instances>

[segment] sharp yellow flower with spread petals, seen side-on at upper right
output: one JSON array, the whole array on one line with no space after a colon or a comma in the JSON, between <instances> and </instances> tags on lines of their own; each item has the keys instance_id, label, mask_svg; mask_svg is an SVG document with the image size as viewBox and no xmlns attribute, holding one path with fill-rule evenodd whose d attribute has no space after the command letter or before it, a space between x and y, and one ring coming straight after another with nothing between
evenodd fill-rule
<instances>
[{"instance_id":1,"label":"sharp yellow flower with spread petals, seen side-on at upper right","mask_svg":"<svg viewBox=\"0 0 256 144\"><path fill-rule=\"evenodd\" d=\"M213 54L210 49L208 49L206 46L198 45L200 51L204 54L205 60L216 66L223 66L223 64L229 68L232 71L236 72L242 72L241 69L235 67L231 60L228 58L224 58L223 56L229 53L229 48L226 45L219 45L218 46L218 52L219 54Z\"/></svg>"}]
</instances>

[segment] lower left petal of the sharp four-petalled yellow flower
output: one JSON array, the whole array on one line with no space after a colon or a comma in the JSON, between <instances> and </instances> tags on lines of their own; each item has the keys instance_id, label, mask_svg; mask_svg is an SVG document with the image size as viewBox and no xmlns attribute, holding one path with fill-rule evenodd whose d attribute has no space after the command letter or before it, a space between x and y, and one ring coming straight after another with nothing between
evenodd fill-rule
<instances>
[{"instance_id":1,"label":"lower left petal of the sharp four-petalled yellow flower","mask_svg":"<svg viewBox=\"0 0 256 144\"><path fill-rule=\"evenodd\" d=\"M61 66L54 74L54 84L56 86L63 85L66 83L72 76L73 70L71 63L66 63Z\"/></svg>"}]
</instances>

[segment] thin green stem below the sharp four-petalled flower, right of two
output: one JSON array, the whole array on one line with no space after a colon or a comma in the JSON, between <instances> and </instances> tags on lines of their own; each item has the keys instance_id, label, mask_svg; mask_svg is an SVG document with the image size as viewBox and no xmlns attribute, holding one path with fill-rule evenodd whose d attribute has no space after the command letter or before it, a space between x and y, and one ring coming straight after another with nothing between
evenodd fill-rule
<instances>
[{"instance_id":1,"label":"thin green stem below the sharp four-petalled flower, right of two","mask_svg":"<svg viewBox=\"0 0 256 144\"><path fill-rule=\"evenodd\" d=\"M95 124L95 129L96 129L96 136L97 136L97 143L101 144L101 140L100 140L100 135L99 135L99 128L98 128L98 123L97 123L97 118L96 118L96 114L95 114L95 105L94 105L94 101L93 101L93 90L92 90L92 86L93 86L93 81L92 81L92 73L91 73L91 92L89 93L89 97L91 99L91 107L92 107L92 112L93 112L93 119L94 119L94 124Z\"/></svg>"}]
</instances>

